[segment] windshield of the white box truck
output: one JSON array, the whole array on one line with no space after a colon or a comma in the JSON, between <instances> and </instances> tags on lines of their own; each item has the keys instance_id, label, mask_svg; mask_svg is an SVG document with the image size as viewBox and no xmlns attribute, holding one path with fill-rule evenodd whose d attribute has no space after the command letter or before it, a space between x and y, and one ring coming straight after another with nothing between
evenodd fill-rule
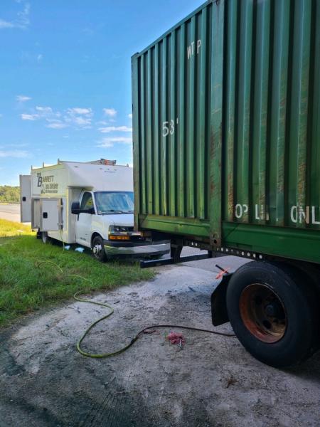
<instances>
[{"instance_id":1,"label":"windshield of the white box truck","mask_svg":"<svg viewBox=\"0 0 320 427\"><path fill-rule=\"evenodd\" d=\"M98 214L132 214L133 191L96 191L95 204Z\"/></svg>"}]
</instances>

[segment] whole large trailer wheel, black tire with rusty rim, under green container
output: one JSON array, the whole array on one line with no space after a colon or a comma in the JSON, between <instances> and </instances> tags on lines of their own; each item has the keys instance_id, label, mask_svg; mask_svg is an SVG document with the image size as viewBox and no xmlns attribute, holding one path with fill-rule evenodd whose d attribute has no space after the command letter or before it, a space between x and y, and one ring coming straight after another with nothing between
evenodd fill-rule
<instances>
[{"instance_id":1,"label":"whole large trailer wheel, black tire with rusty rim, under green container","mask_svg":"<svg viewBox=\"0 0 320 427\"><path fill-rule=\"evenodd\" d=\"M256 359L290 367L315 351L316 292L294 267L253 261L230 279L228 316L239 341Z\"/></svg>"}]
</instances>

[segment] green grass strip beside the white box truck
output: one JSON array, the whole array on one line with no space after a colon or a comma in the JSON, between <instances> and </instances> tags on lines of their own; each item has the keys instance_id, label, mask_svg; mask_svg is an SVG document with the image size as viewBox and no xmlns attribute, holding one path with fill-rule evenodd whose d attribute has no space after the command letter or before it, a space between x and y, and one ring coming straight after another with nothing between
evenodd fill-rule
<instances>
[{"instance_id":1,"label":"green grass strip beside the white box truck","mask_svg":"<svg viewBox=\"0 0 320 427\"><path fill-rule=\"evenodd\" d=\"M56 263L63 273L43 261ZM65 274L81 275L92 284ZM44 245L30 227L0 219L0 326L68 300L78 290L107 290L153 277L152 270L141 270L136 263L99 263L87 253Z\"/></svg>"}]
</instances>

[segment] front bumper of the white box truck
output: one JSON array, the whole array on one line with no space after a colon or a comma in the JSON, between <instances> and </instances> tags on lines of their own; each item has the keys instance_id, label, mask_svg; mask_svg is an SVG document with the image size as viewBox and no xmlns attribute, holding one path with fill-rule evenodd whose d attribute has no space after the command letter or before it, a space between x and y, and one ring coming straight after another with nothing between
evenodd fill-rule
<instances>
[{"instance_id":1,"label":"front bumper of the white box truck","mask_svg":"<svg viewBox=\"0 0 320 427\"><path fill-rule=\"evenodd\" d=\"M105 253L109 256L161 256L170 252L169 241L157 241L154 243L131 243L104 241Z\"/></svg>"}]
</instances>

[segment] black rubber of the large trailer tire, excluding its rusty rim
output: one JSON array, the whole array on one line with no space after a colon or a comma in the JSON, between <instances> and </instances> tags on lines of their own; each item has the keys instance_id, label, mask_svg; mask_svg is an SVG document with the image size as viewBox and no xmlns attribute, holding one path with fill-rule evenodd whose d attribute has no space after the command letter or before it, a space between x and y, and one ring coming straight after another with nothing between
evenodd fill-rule
<instances>
[{"instance_id":1,"label":"black rubber of the large trailer tire, excluding its rusty rim","mask_svg":"<svg viewBox=\"0 0 320 427\"><path fill-rule=\"evenodd\" d=\"M267 285L282 301L287 315L284 336L263 342L250 332L240 315L240 295L248 285ZM252 356L272 367L291 367L314 352L319 322L316 292L302 272L284 263L253 261L242 265L230 279L226 295L228 316L239 341Z\"/></svg>"}]
</instances>

